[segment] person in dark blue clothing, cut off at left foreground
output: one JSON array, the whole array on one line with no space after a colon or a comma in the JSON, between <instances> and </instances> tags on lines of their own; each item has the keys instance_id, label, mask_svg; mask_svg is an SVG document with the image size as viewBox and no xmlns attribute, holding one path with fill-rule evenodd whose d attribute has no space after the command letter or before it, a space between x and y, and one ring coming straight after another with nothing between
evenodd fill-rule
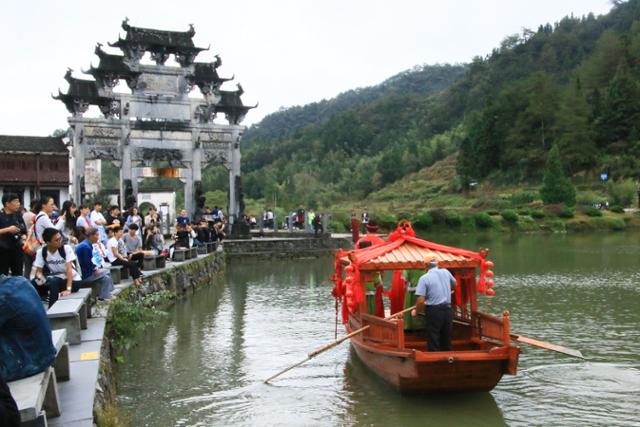
<instances>
[{"instance_id":1,"label":"person in dark blue clothing, cut off at left foreground","mask_svg":"<svg viewBox=\"0 0 640 427\"><path fill-rule=\"evenodd\" d=\"M53 365L56 348L38 293L22 276L0 274L0 378L14 381Z\"/></svg>"}]
</instances>

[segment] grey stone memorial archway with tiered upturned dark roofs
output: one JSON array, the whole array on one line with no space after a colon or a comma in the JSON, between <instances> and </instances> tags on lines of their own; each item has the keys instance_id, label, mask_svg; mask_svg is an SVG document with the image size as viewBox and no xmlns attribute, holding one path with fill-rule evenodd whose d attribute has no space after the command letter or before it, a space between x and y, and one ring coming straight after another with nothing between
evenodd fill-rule
<instances>
[{"instance_id":1,"label":"grey stone memorial archway with tiered upturned dark roofs","mask_svg":"<svg viewBox=\"0 0 640 427\"><path fill-rule=\"evenodd\" d=\"M254 107L243 105L237 90L221 90L218 76L222 61L195 62L203 48L193 43L193 26L188 31L164 31L122 23L125 38L110 44L123 55L107 53L98 44L97 67L86 74L95 80L78 79L67 71L67 93L55 96L72 114L69 117L73 146L73 198L84 201L89 192L100 191L100 162L114 162L120 169L120 200L135 203L138 183L146 177L168 176L185 185L185 208L198 214L202 200L202 169L222 164L229 171L229 221L233 225L243 212L240 177L240 140L245 127L240 123ZM149 52L155 65L141 64ZM179 67L166 66L174 55ZM113 89L124 80L131 93ZM189 97L198 86L201 98ZM83 114L97 106L103 117ZM214 123L224 114L227 124ZM90 187L90 188L88 188ZM88 191L90 190L90 191ZM200 203L201 204L201 203Z\"/></svg>"}]
</instances>

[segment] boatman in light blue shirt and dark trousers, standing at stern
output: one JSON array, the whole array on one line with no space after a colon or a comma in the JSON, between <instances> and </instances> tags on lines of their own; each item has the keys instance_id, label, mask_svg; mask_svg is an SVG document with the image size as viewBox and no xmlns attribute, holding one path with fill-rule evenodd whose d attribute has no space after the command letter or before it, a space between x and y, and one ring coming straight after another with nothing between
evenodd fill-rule
<instances>
[{"instance_id":1,"label":"boatman in light blue shirt and dark trousers, standing at stern","mask_svg":"<svg viewBox=\"0 0 640 427\"><path fill-rule=\"evenodd\" d=\"M420 277L416 287L416 308L411 311L415 317L424 307L428 351L451 351L451 293L455 287L456 279L449 270L438 268L435 258L429 259L427 273Z\"/></svg>"}]
</instances>

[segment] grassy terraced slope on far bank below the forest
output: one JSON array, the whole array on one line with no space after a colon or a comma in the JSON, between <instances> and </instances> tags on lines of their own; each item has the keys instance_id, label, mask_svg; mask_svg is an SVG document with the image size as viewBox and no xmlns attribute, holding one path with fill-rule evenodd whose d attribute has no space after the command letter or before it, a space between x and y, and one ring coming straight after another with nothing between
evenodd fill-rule
<instances>
[{"instance_id":1,"label":"grassy terraced slope on far bank below the forest","mask_svg":"<svg viewBox=\"0 0 640 427\"><path fill-rule=\"evenodd\" d=\"M387 231L394 229L400 219L411 220L421 230L455 232L617 231L640 227L638 214L625 213L615 203L620 199L627 206L637 205L635 186L628 181L603 184L597 177L578 177L574 184L577 195L572 208L545 206L539 184L487 181L464 193L457 181L456 156L452 155L371 193L365 200L336 201L320 210L331 213L334 232L347 232L351 210L360 214L364 208ZM610 202L609 210L594 207L606 201ZM263 200L249 199L246 212L258 214L266 206L273 207ZM282 219L285 212L276 206L277 218Z\"/></svg>"}]
</instances>

